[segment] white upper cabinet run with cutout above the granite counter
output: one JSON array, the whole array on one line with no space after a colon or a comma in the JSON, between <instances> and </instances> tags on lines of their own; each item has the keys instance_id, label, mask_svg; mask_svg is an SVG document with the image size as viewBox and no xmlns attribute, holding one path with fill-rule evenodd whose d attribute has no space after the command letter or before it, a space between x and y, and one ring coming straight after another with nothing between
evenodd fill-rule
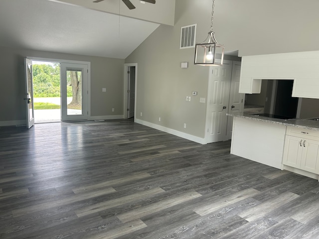
<instances>
[{"instance_id":1,"label":"white upper cabinet run with cutout above the granite counter","mask_svg":"<svg viewBox=\"0 0 319 239\"><path fill-rule=\"evenodd\" d=\"M294 80L293 97L319 99L319 51L243 56L239 93L259 94L262 79Z\"/></svg>"}]
</instances>

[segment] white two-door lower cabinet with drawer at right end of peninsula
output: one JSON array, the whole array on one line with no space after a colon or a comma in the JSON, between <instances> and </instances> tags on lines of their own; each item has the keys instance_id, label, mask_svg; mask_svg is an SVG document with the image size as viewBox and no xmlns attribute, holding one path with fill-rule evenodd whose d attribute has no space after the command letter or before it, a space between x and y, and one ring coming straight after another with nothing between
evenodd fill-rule
<instances>
[{"instance_id":1,"label":"white two-door lower cabinet with drawer at right end of peninsula","mask_svg":"<svg viewBox=\"0 0 319 239\"><path fill-rule=\"evenodd\" d=\"M301 131L301 134L310 132ZM319 138L316 140L312 135L298 137L286 134L283 164L319 174Z\"/></svg>"}]
</instances>

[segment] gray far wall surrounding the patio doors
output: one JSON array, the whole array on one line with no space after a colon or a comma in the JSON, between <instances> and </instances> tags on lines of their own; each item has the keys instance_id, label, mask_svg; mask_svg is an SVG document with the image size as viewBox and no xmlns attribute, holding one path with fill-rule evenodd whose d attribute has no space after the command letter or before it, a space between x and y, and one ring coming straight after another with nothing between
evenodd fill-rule
<instances>
[{"instance_id":1,"label":"gray far wall surrounding the patio doors","mask_svg":"<svg viewBox=\"0 0 319 239\"><path fill-rule=\"evenodd\" d=\"M91 116L123 115L124 60L0 47L0 121L26 119L24 58L43 57L91 62ZM107 88L107 92L102 92ZM115 112L112 112L115 108Z\"/></svg>"}]
</instances>

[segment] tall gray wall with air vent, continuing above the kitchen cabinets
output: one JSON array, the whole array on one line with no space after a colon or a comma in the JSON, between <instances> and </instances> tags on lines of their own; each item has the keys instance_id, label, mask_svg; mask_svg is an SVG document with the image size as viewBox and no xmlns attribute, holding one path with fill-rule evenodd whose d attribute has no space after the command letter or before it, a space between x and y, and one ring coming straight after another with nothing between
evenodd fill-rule
<instances>
[{"instance_id":1,"label":"tall gray wall with air vent, continuing above the kitchen cabinets","mask_svg":"<svg viewBox=\"0 0 319 239\"><path fill-rule=\"evenodd\" d=\"M206 38L211 4L176 0L175 25L160 26L126 59L138 63L137 119L204 137L206 104L199 98L207 99L209 67L194 66L194 49L180 50L179 38L180 27L194 23L197 42ZM318 9L318 0L216 0L214 31L225 51L239 56L319 50ZM184 61L187 69L180 68ZM198 95L186 102L192 91Z\"/></svg>"}]
</instances>

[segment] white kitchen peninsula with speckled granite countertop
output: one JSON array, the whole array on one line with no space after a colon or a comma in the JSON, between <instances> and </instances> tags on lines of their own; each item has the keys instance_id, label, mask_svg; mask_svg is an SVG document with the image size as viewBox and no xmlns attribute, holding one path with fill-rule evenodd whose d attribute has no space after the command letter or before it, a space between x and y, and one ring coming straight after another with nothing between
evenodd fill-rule
<instances>
[{"instance_id":1,"label":"white kitchen peninsula with speckled granite countertop","mask_svg":"<svg viewBox=\"0 0 319 239\"><path fill-rule=\"evenodd\" d=\"M319 121L231 113L231 154L319 179Z\"/></svg>"}]
</instances>

